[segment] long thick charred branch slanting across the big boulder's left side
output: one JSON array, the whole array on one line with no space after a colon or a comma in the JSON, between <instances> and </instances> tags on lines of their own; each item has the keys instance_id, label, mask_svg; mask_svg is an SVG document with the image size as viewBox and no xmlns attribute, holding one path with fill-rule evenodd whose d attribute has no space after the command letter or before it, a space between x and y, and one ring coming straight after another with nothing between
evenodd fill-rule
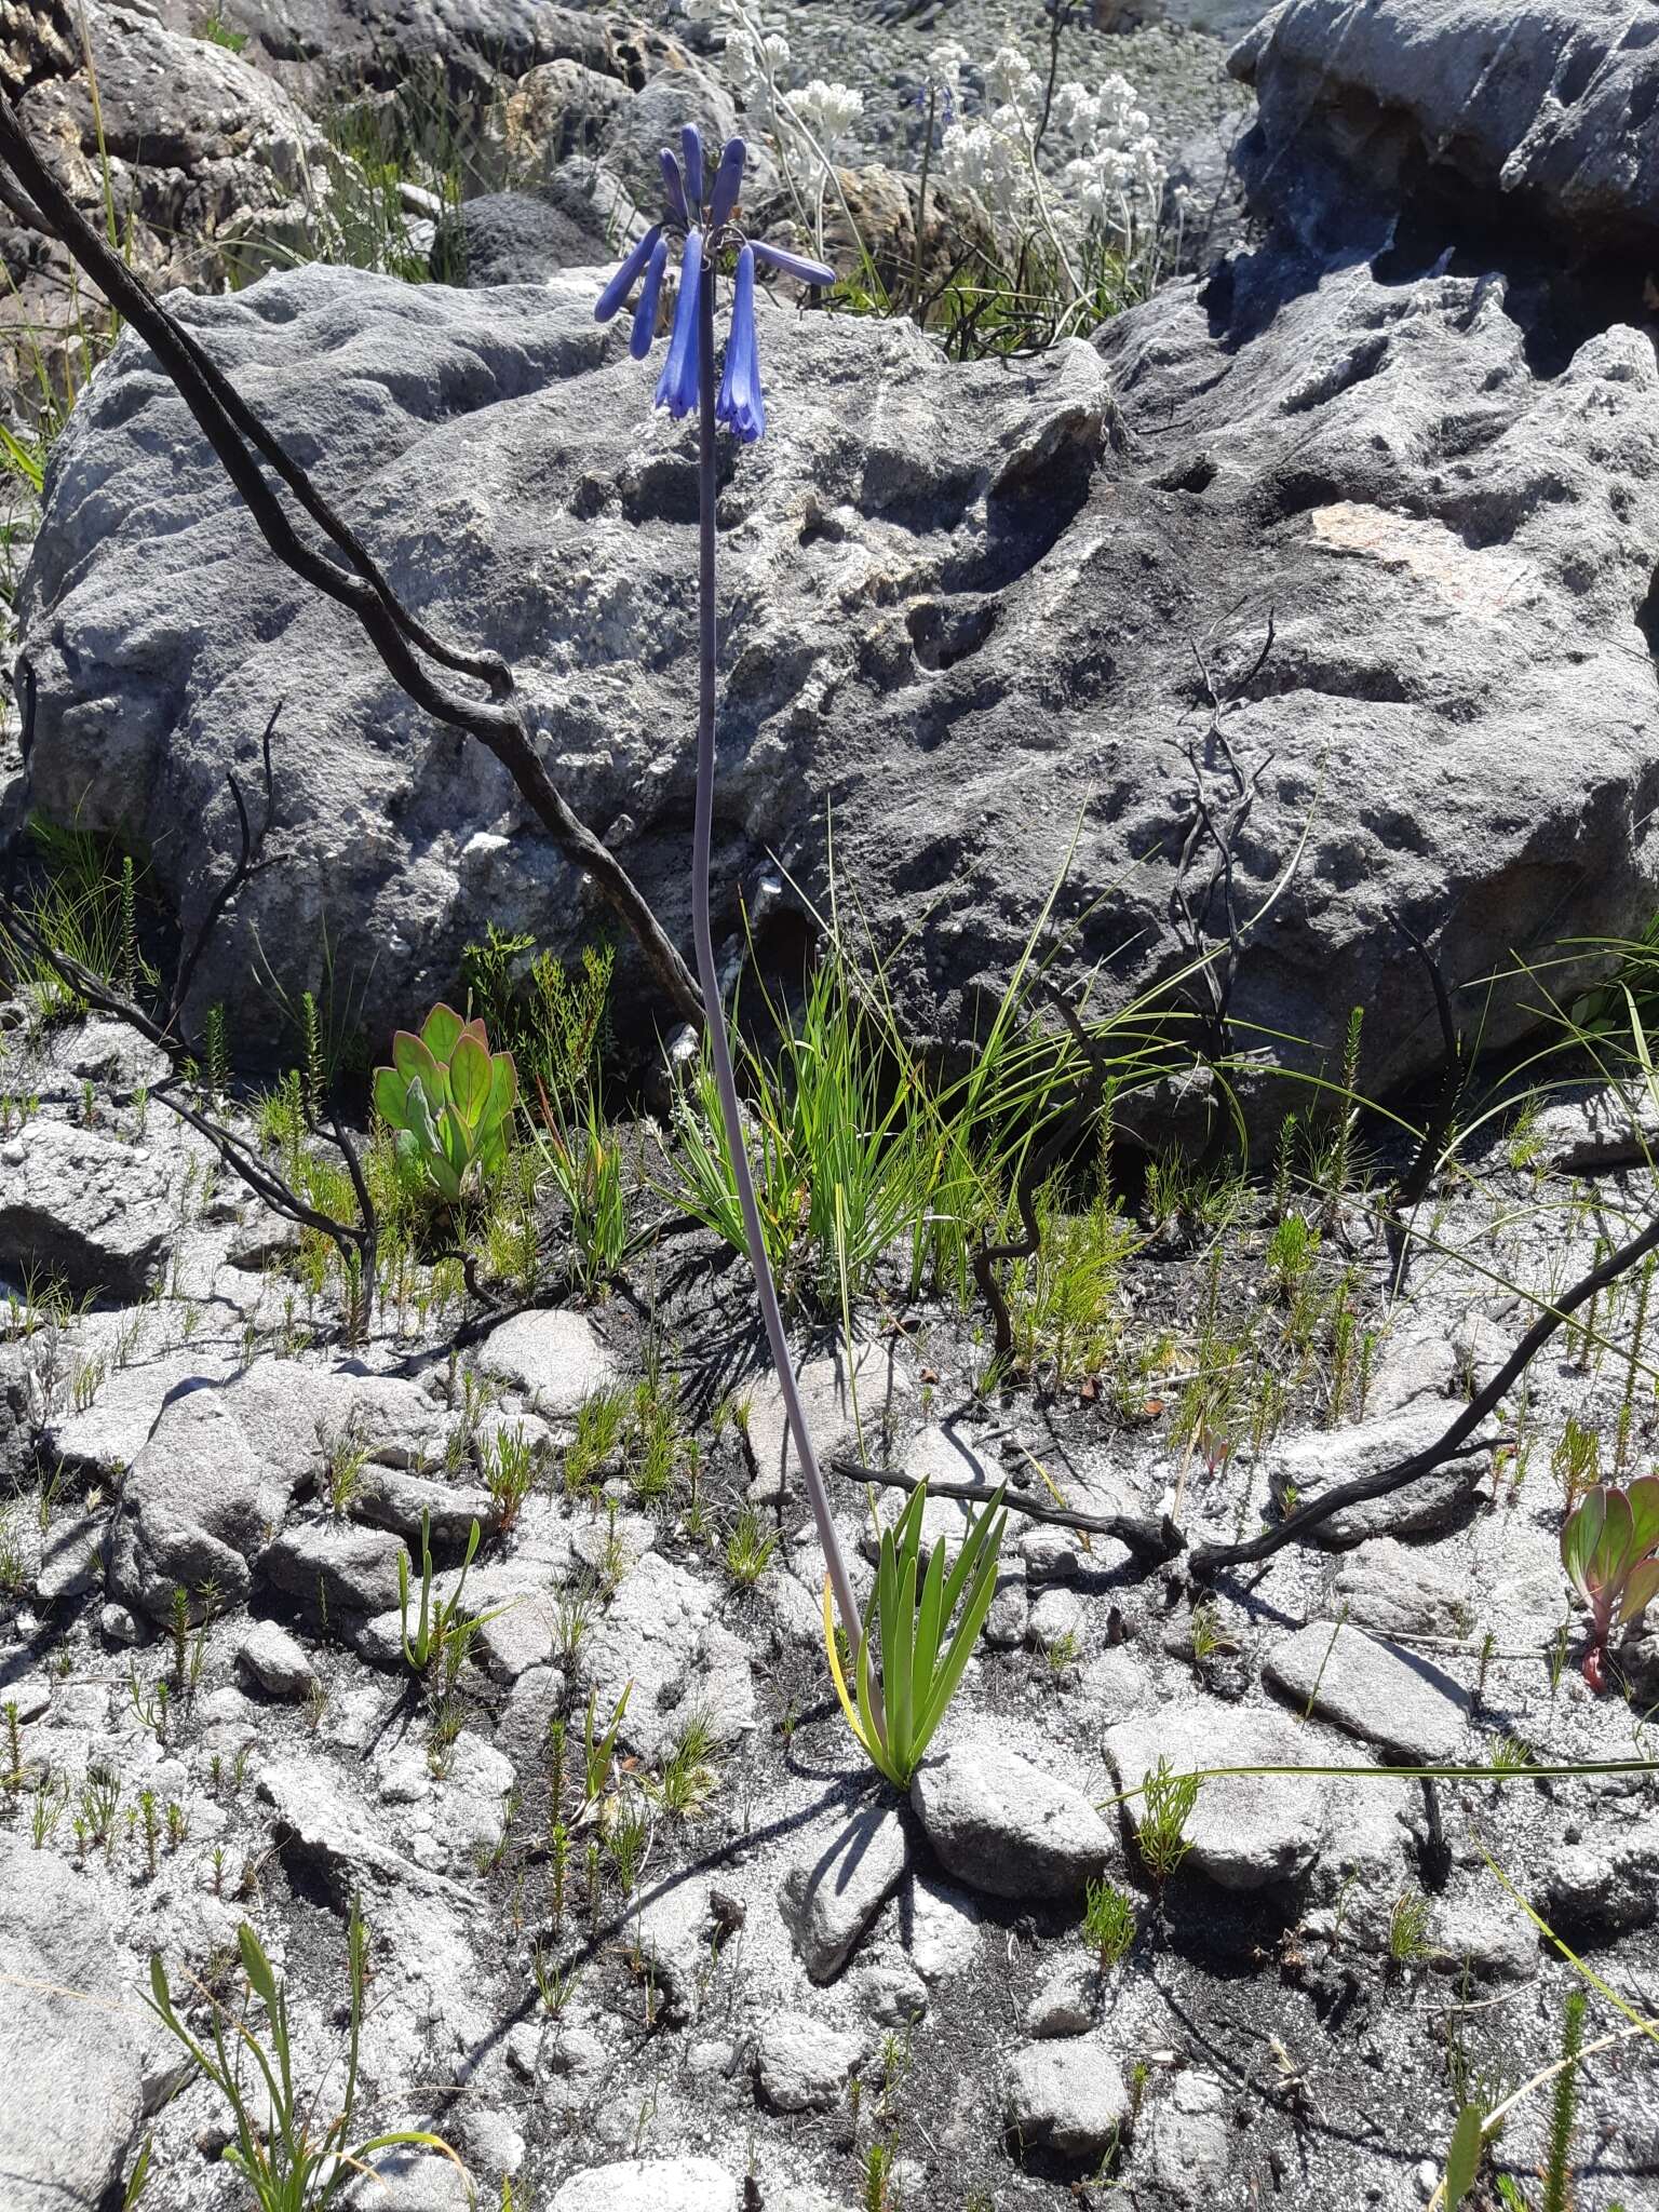
<instances>
[{"instance_id":1,"label":"long thick charred branch slanting across the big boulder's left side","mask_svg":"<svg viewBox=\"0 0 1659 2212\"><path fill-rule=\"evenodd\" d=\"M150 296L108 241L93 230L40 159L15 108L4 97L0 97L0 161L9 164L33 201L35 226L73 254L111 307L139 332L173 378L179 398L219 456L276 560L356 615L387 675L416 706L449 728L478 739L495 754L557 852L593 878L604 900L633 931L677 1011L701 1029L703 1002L686 962L635 880L580 821L546 772L535 741L535 721L529 706L515 697L507 661L493 653L462 653L445 644L403 606L356 531L316 491L310 476L288 456L177 316ZM13 212L29 206L18 192L9 192L7 201ZM330 551L321 551L299 535L265 469L279 478L323 533ZM427 664L476 679L489 697L440 681Z\"/></svg>"}]
</instances>

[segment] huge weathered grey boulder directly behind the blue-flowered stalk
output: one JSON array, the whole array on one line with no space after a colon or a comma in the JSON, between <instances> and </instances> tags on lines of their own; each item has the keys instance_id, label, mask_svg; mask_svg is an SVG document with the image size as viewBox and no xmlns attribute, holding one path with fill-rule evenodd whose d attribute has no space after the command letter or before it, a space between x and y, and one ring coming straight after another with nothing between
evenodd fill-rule
<instances>
[{"instance_id":1,"label":"huge weathered grey boulder directly behind the blue-flowered stalk","mask_svg":"<svg viewBox=\"0 0 1659 2212\"><path fill-rule=\"evenodd\" d=\"M571 801L686 940L692 445L595 327L597 283L458 294L312 268L184 314L396 588L518 666ZM1396 283L1265 250L1018 372L776 307L761 349L772 427L721 493L717 925L737 938L741 896L763 960L801 933L776 863L825 896L834 796L876 940L909 938L894 984L916 1037L971 1033L1073 832L1062 967L1117 953L1106 995L1172 969L1192 639L1245 692L1234 754L1270 759L1245 916L1307 832L1239 1018L1318 1055L1363 1004L1380 1088L1440 1051L1394 914L1438 931L1458 987L1650 911L1659 365L1637 330L1546 376L1502 276ZM560 951L604 925L507 772L274 566L131 338L58 447L20 608L31 803L150 843L186 920L234 838L226 770L252 768L285 701L285 865L201 971L246 1042L270 1029L254 938L299 991L321 987L327 925L389 1029L489 920ZM1482 987L1486 1042L1531 1002Z\"/></svg>"}]
</instances>

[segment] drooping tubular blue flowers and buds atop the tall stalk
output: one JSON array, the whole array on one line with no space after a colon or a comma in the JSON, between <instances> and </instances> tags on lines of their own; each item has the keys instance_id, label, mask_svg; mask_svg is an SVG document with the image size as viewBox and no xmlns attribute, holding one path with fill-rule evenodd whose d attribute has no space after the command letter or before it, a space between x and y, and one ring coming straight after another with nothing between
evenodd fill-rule
<instances>
[{"instance_id":1,"label":"drooping tubular blue flowers and buds atop the tall stalk","mask_svg":"<svg viewBox=\"0 0 1659 2212\"><path fill-rule=\"evenodd\" d=\"M684 241L675 325L668 334L668 358L657 378L657 407L664 407L679 422L701 400L706 352L703 303L708 303L712 319L714 272L721 257L737 254L732 332L726 341L726 367L714 398L714 420L723 422L743 445L754 445L765 431L761 358L754 338L754 263L765 261L783 270L785 276L794 276L796 283L827 285L836 281L836 274L818 261L805 261L781 246L768 246L743 234L737 221L737 201L743 190L745 161L748 148L743 139L728 139L719 164L710 173L710 166L703 161L703 139L692 124L686 124L679 133L679 157L675 157L672 148L664 146L664 217L650 226L604 288L595 301L593 319L608 323L637 285L639 296L633 310L628 352L635 361L644 361L657 336L668 246L675 237ZM712 369L712 361L708 367Z\"/></svg>"}]
</instances>

